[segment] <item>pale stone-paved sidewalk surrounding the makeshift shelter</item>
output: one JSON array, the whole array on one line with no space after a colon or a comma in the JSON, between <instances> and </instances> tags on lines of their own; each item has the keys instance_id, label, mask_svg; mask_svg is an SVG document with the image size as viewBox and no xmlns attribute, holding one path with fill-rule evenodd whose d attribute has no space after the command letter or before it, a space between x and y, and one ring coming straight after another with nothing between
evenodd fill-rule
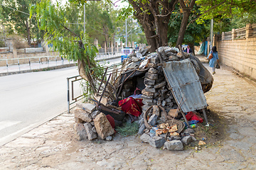
<instances>
[{"instance_id":1,"label":"pale stone-paved sidewalk surrounding the makeshift shelter","mask_svg":"<svg viewBox=\"0 0 256 170\"><path fill-rule=\"evenodd\" d=\"M219 145L171 152L136 136L77 141L73 115L63 113L2 146L0 169L256 169L256 86L228 67L213 77L206 99L208 109L225 119Z\"/></svg>"}]
</instances>

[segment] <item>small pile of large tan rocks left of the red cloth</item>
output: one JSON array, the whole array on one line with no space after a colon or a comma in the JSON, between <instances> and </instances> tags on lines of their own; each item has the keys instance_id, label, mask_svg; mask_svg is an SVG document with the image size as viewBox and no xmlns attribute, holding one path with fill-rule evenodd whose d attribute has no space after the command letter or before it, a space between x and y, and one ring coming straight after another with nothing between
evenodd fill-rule
<instances>
[{"instance_id":1,"label":"small pile of large tan rocks left of the red cloth","mask_svg":"<svg viewBox=\"0 0 256 170\"><path fill-rule=\"evenodd\" d=\"M90 103L77 103L73 110L75 115L75 138L77 140L112 140L114 129L105 114L96 111Z\"/></svg>"}]
</instances>

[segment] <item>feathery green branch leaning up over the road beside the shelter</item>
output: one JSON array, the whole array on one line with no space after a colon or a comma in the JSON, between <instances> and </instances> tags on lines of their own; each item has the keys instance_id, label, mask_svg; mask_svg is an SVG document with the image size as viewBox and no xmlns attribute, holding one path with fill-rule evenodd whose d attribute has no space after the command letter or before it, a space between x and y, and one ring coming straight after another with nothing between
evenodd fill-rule
<instances>
[{"instance_id":1,"label":"feathery green branch leaning up over the road beside the shelter","mask_svg":"<svg viewBox=\"0 0 256 170\"><path fill-rule=\"evenodd\" d=\"M54 49L68 60L81 61L85 75L80 75L88 81L90 91L95 91L97 79L101 79L103 74L102 67L95 62L97 47L89 42L86 34L78 34L68 28L65 11L58 3L55 7L50 0L42 0L31 5L31 16L34 13L39 28L45 31L44 40L52 43Z\"/></svg>"}]
</instances>

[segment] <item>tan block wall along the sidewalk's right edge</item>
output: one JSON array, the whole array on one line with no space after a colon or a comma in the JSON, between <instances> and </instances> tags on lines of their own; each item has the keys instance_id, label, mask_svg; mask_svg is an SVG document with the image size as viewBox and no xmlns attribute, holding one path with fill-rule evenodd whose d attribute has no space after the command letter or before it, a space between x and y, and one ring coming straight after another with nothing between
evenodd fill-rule
<instances>
[{"instance_id":1,"label":"tan block wall along the sidewalk's right edge","mask_svg":"<svg viewBox=\"0 0 256 170\"><path fill-rule=\"evenodd\" d=\"M215 45L222 64L256 79L256 24L223 33Z\"/></svg>"}]
</instances>

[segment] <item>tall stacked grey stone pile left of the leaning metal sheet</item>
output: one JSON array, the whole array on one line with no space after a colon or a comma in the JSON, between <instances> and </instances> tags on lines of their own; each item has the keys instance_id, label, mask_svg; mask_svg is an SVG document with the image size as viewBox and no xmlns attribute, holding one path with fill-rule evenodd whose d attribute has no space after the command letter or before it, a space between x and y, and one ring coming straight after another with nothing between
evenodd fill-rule
<instances>
[{"instance_id":1,"label":"tall stacked grey stone pile left of the leaning metal sheet","mask_svg":"<svg viewBox=\"0 0 256 170\"><path fill-rule=\"evenodd\" d=\"M161 135L156 133L156 125L165 123L167 120L171 120L175 116L176 109L178 108L174 96L171 94L171 89L169 89L168 83L164 77L164 72L161 69L160 61L180 61L183 60L182 54L173 47L159 47L159 54L161 55L161 60L157 52L152 52L148 55L137 54L137 57L143 57L144 61L141 61L139 68L146 69L149 68L145 74L144 85L145 89L142 90L142 98L144 106L142 106L142 116L139 120L139 134L142 135L140 138L143 142L149 143L152 147L162 147L169 150L183 150L183 145L188 145L191 141L196 140L193 137L193 130L187 129L185 132L178 135L169 135L166 137L166 133ZM145 56L146 55L146 56ZM185 52L185 58L188 58L189 54ZM138 62L134 57L131 57L130 62ZM153 106L153 109L149 111L150 118L148 124L154 128L146 128L144 123L143 115ZM168 115L163 115L163 111L160 111L158 107L164 108ZM152 131L154 131L152 133Z\"/></svg>"}]
</instances>

